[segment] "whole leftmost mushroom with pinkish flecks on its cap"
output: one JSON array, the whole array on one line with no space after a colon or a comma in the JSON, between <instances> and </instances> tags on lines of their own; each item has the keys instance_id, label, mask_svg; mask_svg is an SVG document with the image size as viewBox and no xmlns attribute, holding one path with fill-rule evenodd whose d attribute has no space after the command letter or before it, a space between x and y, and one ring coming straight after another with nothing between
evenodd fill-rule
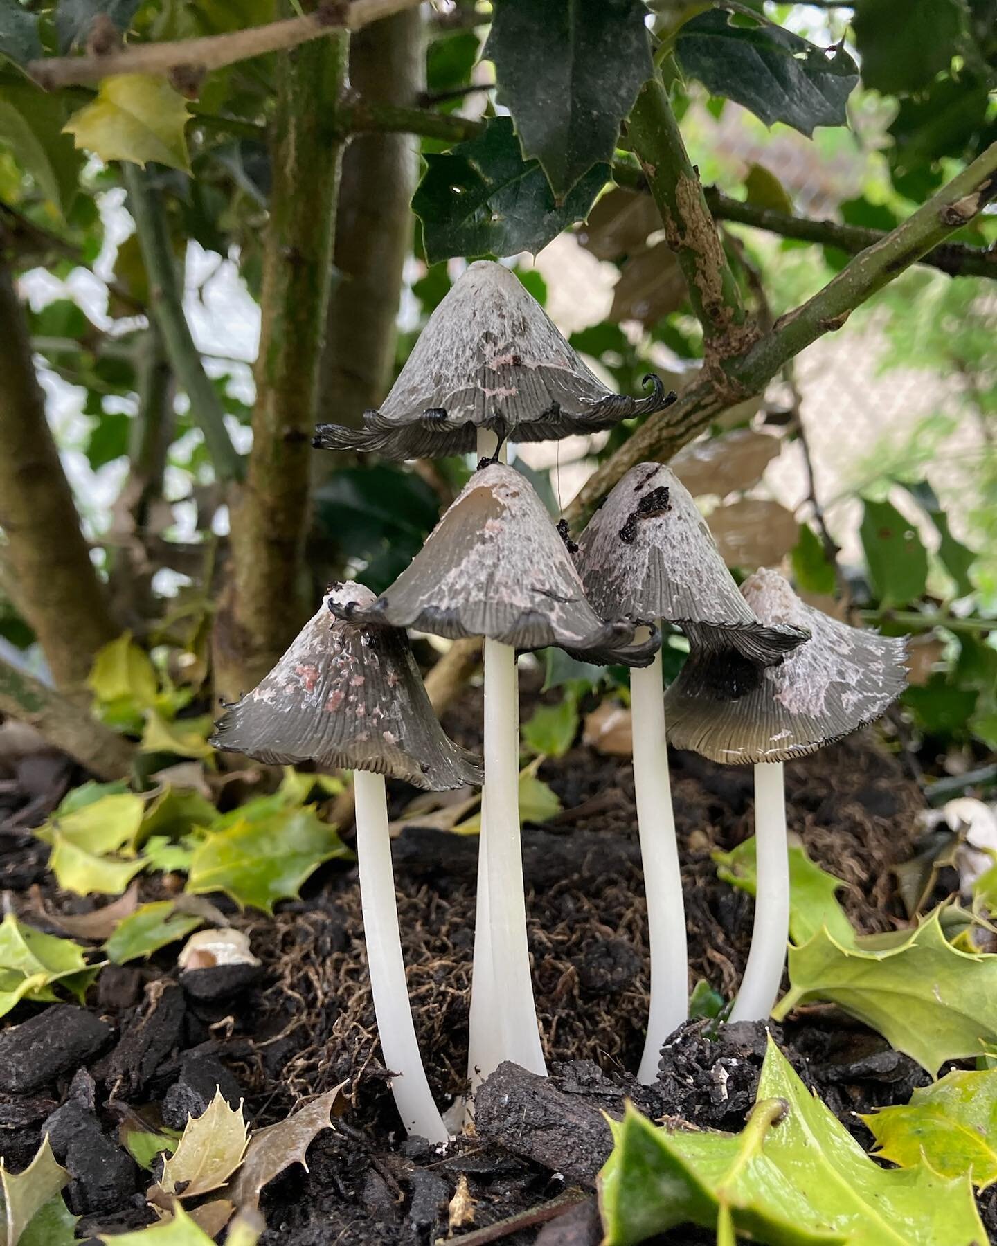
<instances>
[{"instance_id":1,"label":"whole leftmost mushroom with pinkish flecks on its cap","mask_svg":"<svg viewBox=\"0 0 997 1246\"><path fill-rule=\"evenodd\" d=\"M440 1143L449 1134L405 982L384 776L445 790L480 784L482 775L437 723L405 633L330 613L373 601L363 584L334 586L274 669L221 718L211 743L259 761L354 771L364 937L385 1065L399 1074L391 1089L405 1129Z\"/></svg>"}]
</instances>

